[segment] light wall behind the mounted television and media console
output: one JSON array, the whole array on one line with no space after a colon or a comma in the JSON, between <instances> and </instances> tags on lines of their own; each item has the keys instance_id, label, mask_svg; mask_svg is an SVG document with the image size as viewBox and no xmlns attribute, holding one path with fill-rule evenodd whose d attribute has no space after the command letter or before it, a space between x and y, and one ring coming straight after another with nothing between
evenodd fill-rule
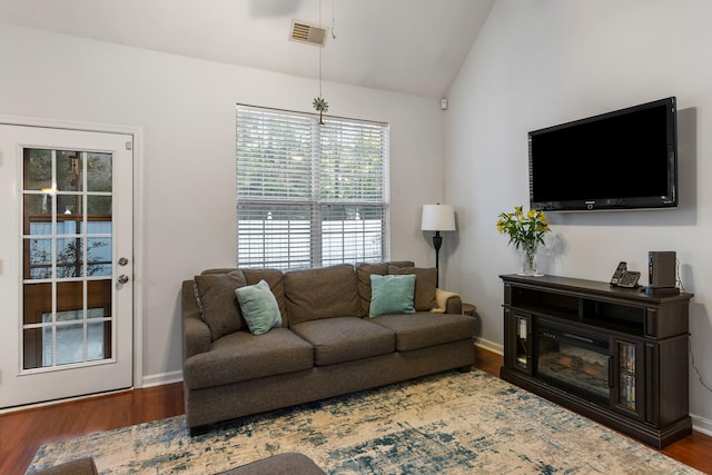
<instances>
[{"instance_id":1,"label":"light wall behind the mounted television and media console","mask_svg":"<svg viewBox=\"0 0 712 475\"><path fill-rule=\"evenodd\" d=\"M610 279L643 271L649 250L675 250L690 307L692 355L712 386L712 2L497 0L449 93L447 199L461 245L451 287L477 305L482 343L502 348L503 286L517 255L497 215L528 205L530 130L678 97L680 207L665 211L550 214L538 259L546 274ZM565 177L563 177L565 179ZM712 431L712 392L690 368L693 424Z\"/></svg>"}]
</instances>

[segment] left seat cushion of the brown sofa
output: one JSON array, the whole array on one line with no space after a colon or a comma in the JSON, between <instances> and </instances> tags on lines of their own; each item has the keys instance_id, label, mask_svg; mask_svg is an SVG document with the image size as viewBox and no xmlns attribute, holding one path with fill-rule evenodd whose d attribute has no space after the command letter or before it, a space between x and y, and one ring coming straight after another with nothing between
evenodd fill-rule
<instances>
[{"instance_id":1,"label":"left seat cushion of the brown sofa","mask_svg":"<svg viewBox=\"0 0 712 475\"><path fill-rule=\"evenodd\" d=\"M287 328L264 335L235 331L212 344L208 353L186 359L184 380L190 389L221 386L314 366L314 348Z\"/></svg>"}]
</instances>

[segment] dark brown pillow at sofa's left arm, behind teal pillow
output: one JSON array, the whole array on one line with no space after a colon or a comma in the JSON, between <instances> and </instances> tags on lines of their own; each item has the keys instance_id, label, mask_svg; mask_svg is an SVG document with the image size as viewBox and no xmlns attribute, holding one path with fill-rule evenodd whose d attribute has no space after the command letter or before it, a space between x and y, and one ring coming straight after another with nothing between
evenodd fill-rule
<instances>
[{"instance_id":1,"label":"dark brown pillow at sofa's left arm, behind teal pillow","mask_svg":"<svg viewBox=\"0 0 712 475\"><path fill-rule=\"evenodd\" d=\"M214 342L247 327L235 296L235 289L247 284L241 271L202 274L196 276L194 283L198 309L202 320L210 327Z\"/></svg>"}]
</instances>

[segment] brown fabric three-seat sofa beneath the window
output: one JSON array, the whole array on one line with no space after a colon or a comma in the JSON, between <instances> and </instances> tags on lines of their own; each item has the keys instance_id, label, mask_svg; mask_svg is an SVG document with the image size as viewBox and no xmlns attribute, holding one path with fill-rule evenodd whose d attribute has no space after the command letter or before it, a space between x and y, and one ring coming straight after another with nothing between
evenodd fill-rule
<instances>
[{"instance_id":1,"label":"brown fabric three-seat sofa beneath the window","mask_svg":"<svg viewBox=\"0 0 712 475\"><path fill-rule=\"evenodd\" d=\"M208 425L474 364L475 319L412 261L209 269L182 283L184 397ZM370 276L415 274L415 313L369 316ZM235 289L265 280L281 325L253 335ZM439 313L431 311L444 301Z\"/></svg>"}]
</instances>

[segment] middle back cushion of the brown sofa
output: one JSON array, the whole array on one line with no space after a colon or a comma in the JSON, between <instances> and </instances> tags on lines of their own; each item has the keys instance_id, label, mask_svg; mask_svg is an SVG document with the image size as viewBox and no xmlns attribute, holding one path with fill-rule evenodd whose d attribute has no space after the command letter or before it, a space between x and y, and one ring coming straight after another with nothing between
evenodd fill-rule
<instances>
[{"instance_id":1,"label":"middle back cushion of the brown sofa","mask_svg":"<svg viewBox=\"0 0 712 475\"><path fill-rule=\"evenodd\" d=\"M285 273L289 326L332 317L360 317L354 266L342 264Z\"/></svg>"}]
</instances>

